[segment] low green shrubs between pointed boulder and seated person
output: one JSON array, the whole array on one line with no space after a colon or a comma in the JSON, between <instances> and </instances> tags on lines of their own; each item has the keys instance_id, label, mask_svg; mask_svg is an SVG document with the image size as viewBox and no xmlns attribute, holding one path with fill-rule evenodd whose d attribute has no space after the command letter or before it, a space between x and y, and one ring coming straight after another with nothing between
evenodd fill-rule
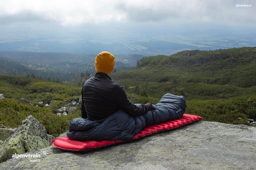
<instances>
[{"instance_id":1,"label":"low green shrubs between pointed boulder and seated person","mask_svg":"<svg viewBox=\"0 0 256 170\"><path fill-rule=\"evenodd\" d=\"M47 133L54 137L68 130L71 119L81 117L79 109L73 114L58 116L54 114L52 108L35 107L23 103L18 104L14 99L0 100L0 110L0 124L17 128L28 115L32 115L45 126Z\"/></svg>"}]
</instances>

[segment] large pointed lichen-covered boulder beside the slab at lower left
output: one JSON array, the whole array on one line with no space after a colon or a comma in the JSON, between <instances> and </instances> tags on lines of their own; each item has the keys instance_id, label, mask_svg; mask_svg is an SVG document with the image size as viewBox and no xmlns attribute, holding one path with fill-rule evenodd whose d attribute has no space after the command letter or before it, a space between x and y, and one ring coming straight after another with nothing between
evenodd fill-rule
<instances>
[{"instance_id":1,"label":"large pointed lichen-covered boulder beside the slab at lower left","mask_svg":"<svg viewBox=\"0 0 256 170\"><path fill-rule=\"evenodd\" d=\"M50 145L53 137L46 133L45 127L31 115L22 121L16 131L0 144L0 162L12 157L45 148Z\"/></svg>"}]
</instances>

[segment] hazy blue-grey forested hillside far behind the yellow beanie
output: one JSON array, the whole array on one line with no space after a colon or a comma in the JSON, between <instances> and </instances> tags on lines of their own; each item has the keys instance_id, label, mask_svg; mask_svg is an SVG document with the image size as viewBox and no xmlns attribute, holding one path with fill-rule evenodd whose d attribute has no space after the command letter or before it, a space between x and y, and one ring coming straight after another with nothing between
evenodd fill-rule
<instances>
[{"instance_id":1,"label":"hazy blue-grey forested hillside far behind the yellow beanie","mask_svg":"<svg viewBox=\"0 0 256 170\"><path fill-rule=\"evenodd\" d=\"M96 55L39 52L0 52L0 74L44 79L52 82L73 81L95 72ZM142 55L117 55L115 72L135 68Z\"/></svg>"}]
</instances>

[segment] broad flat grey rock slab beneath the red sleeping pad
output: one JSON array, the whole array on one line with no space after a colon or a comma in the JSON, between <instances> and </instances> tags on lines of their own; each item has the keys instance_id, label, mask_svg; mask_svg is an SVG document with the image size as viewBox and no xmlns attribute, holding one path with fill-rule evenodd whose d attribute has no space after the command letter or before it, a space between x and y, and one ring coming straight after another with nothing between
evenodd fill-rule
<instances>
[{"instance_id":1,"label":"broad flat grey rock slab beneath the red sleeping pad","mask_svg":"<svg viewBox=\"0 0 256 170\"><path fill-rule=\"evenodd\" d=\"M1 170L131 169L131 170L253 170L256 128L200 121L87 153L65 152L53 146L30 152L35 158L13 158Z\"/></svg>"}]
</instances>

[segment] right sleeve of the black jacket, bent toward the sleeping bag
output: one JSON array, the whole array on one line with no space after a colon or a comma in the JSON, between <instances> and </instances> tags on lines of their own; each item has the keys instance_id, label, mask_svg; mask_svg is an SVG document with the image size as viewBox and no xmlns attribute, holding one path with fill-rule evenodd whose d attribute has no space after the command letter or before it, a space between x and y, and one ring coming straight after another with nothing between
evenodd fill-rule
<instances>
[{"instance_id":1,"label":"right sleeve of the black jacket, bent toward the sleeping bag","mask_svg":"<svg viewBox=\"0 0 256 170\"><path fill-rule=\"evenodd\" d=\"M128 113L130 116L140 116L147 113L148 108L145 104L135 105L126 96L126 93L121 85L116 85L112 88L112 97L117 105Z\"/></svg>"}]
</instances>

